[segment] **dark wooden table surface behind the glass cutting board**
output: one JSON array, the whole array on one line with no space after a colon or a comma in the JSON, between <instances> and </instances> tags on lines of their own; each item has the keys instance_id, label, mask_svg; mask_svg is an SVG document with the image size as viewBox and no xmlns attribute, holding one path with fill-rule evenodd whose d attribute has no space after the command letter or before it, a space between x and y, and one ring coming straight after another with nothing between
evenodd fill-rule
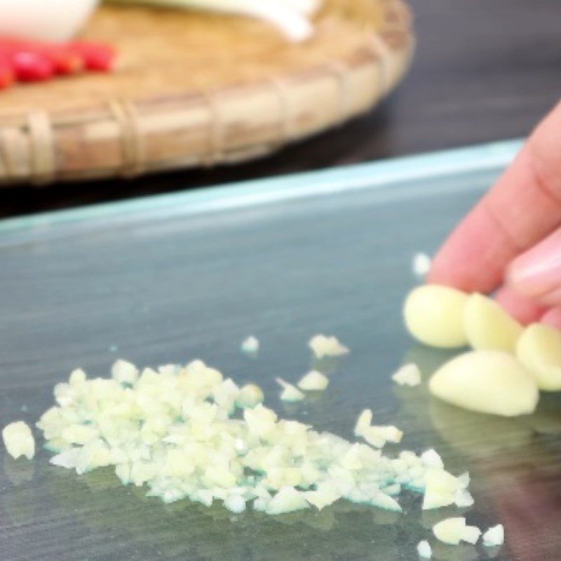
<instances>
[{"instance_id":1,"label":"dark wooden table surface behind the glass cutting board","mask_svg":"<svg viewBox=\"0 0 561 561\"><path fill-rule=\"evenodd\" d=\"M0 217L518 137L560 97L559 0L411 3L414 67L372 114L236 168L0 189Z\"/></svg>"}]
</instances>

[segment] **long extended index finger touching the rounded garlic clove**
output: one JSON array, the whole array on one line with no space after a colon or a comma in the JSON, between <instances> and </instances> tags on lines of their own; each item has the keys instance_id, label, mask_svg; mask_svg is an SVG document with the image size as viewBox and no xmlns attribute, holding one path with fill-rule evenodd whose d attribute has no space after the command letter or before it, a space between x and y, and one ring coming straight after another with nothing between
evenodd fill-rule
<instances>
[{"instance_id":1,"label":"long extended index finger touching the rounded garlic clove","mask_svg":"<svg viewBox=\"0 0 561 561\"><path fill-rule=\"evenodd\" d=\"M561 224L561 103L436 255L428 281L490 292L506 266Z\"/></svg>"}]
</instances>

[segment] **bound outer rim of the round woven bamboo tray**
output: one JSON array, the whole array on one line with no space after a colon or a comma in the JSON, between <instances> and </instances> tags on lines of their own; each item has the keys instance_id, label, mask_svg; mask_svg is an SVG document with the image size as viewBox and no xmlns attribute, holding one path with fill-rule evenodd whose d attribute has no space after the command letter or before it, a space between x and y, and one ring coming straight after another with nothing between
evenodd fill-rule
<instances>
[{"instance_id":1,"label":"bound outer rim of the round woven bamboo tray","mask_svg":"<svg viewBox=\"0 0 561 561\"><path fill-rule=\"evenodd\" d=\"M370 31L344 58L318 62L282 77L259 78L252 83L231 81L208 90L163 90L157 96L117 95L88 102L80 109L0 111L0 187L135 177L175 168L237 163L342 124L377 104L410 64L414 49L410 12L402 0L378 1L387 13L400 13L399 21L384 27L384 33L400 34L403 43L399 47L387 43L381 32ZM357 81L362 90L351 86ZM304 91L311 86L316 88L317 99ZM326 99L329 101L323 115L314 117L316 105L325 104ZM229 131L239 127L236 111L242 107L242 113L248 114L251 104L259 106L269 119L268 130L260 131L263 123L254 119L250 133L255 140L245 142L242 135L241 142L239 137L229 136ZM175 125L173 111L183 119L180 128ZM271 111L276 113L272 118ZM306 122L310 115L316 121ZM165 126L167 131L163 130ZM160 136L167 132L170 142L175 142L173 149L163 154L155 141L150 146L149 128L158 129ZM86 156L72 147L72 138L60 140L61 134L68 137L69 130L74 131L74 140L83 144ZM198 144L187 138L191 132L199 136ZM99 154L103 161L96 167Z\"/></svg>"}]
</instances>

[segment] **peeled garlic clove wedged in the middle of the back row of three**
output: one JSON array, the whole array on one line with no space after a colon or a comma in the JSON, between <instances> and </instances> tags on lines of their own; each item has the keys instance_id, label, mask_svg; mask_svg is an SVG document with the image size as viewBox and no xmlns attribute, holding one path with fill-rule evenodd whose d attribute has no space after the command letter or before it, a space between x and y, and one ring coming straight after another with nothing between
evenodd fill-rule
<instances>
[{"instance_id":1,"label":"peeled garlic clove wedged in the middle of the back row of three","mask_svg":"<svg viewBox=\"0 0 561 561\"><path fill-rule=\"evenodd\" d=\"M468 298L464 309L464 328L473 349L513 353L523 328L493 299L480 294Z\"/></svg>"}]
</instances>

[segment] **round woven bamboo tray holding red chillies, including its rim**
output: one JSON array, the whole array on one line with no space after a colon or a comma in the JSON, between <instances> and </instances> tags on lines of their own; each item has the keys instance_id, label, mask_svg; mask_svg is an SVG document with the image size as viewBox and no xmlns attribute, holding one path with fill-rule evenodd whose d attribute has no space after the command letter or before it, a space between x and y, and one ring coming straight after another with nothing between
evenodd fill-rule
<instances>
[{"instance_id":1,"label":"round woven bamboo tray holding red chillies, including its rim","mask_svg":"<svg viewBox=\"0 0 561 561\"><path fill-rule=\"evenodd\" d=\"M414 44L401 0L326 0L302 45L243 18L114 6L85 35L116 45L114 74L0 93L0 185L267 154L373 107Z\"/></svg>"}]
</instances>

